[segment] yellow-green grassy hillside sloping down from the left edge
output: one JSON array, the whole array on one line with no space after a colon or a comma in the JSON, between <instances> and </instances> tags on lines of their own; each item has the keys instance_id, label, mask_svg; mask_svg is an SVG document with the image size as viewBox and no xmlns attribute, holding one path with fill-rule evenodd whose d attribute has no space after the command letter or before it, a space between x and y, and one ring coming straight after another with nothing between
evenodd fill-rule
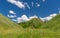
<instances>
[{"instance_id":1,"label":"yellow-green grassy hillside sloping down from the left edge","mask_svg":"<svg viewBox=\"0 0 60 38\"><path fill-rule=\"evenodd\" d=\"M9 18L0 14L0 30L2 29L19 29L22 28L18 24L12 22Z\"/></svg>"}]
</instances>

